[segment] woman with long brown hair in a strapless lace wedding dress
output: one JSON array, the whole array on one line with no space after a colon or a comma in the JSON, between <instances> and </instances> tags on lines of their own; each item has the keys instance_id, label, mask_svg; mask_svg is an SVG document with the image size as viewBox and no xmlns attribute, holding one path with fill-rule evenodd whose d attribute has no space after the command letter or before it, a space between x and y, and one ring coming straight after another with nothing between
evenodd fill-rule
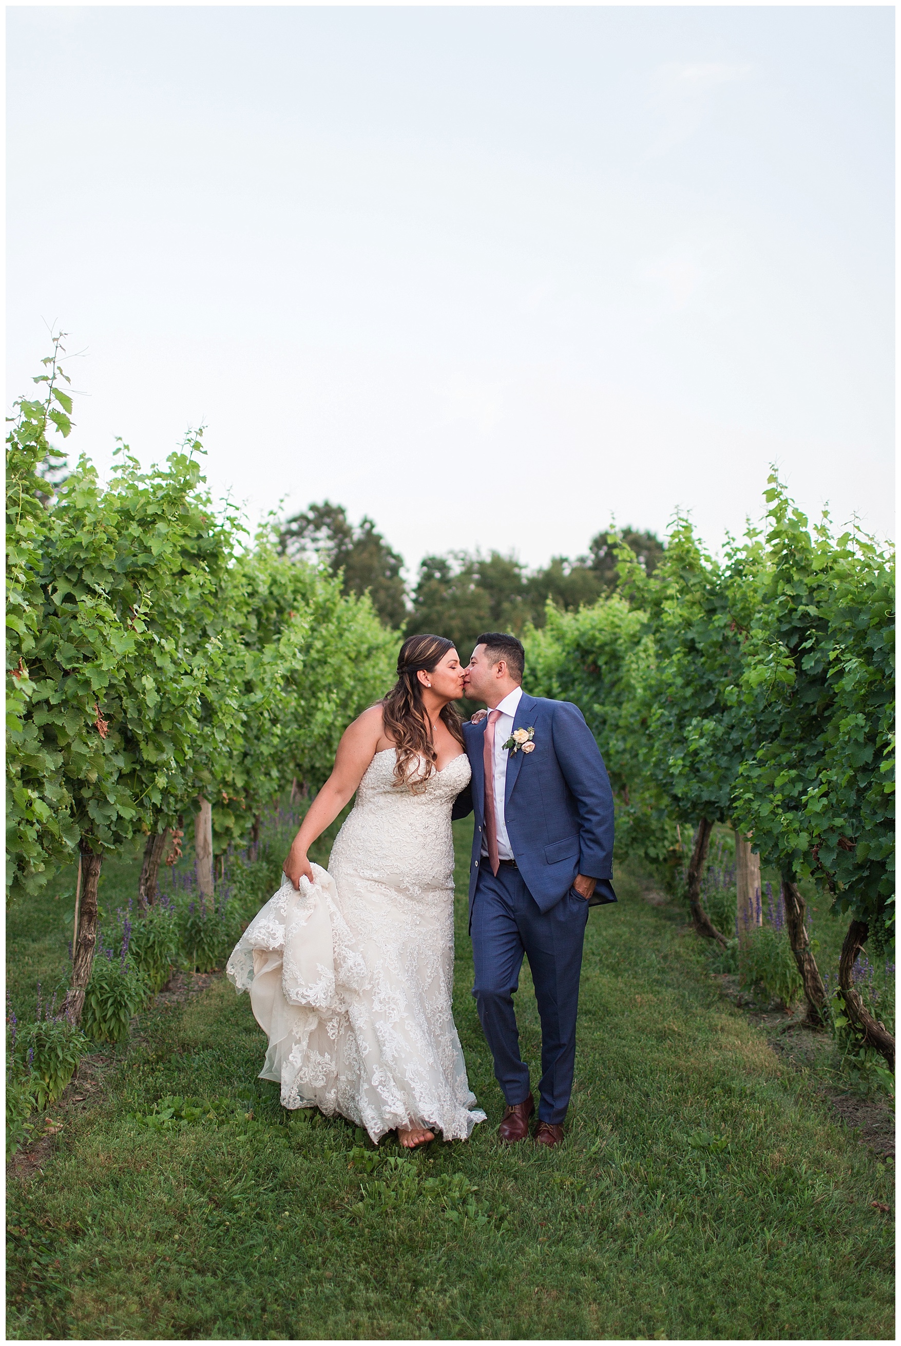
<instances>
[{"instance_id":1,"label":"woman with long brown hair in a strapless lace wedding dress","mask_svg":"<svg viewBox=\"0 0 901 1346\"><path fill-rule=\"evenodd\" d=\"M261 1078L285 1108L397 1129L412 1149L467 1139L473 1105L453 1022L450 809L469 783L464 670L450 641L412 635L385 700L344 731L284 864L280 891L229 958L269 1036ZM307 852L356 791L328 871Z\"/></svg>"}]
</instances>

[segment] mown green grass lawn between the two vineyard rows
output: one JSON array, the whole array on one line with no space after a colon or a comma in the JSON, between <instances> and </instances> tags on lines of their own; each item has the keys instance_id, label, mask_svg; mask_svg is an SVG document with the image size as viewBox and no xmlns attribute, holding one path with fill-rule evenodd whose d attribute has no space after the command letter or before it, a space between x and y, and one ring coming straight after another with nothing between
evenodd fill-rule
<instances>
[{"instance_id":1,"label":"mown green grass lawn between the two vineyard rows","mask_svg":"<svg viewBox=\"0 0 901 1346\"><path fill-rule=\"evenodd\" d=\"M13 1162L9 1337L894 1337L892 1224L870 1205L893 1202L892 1168L723 1000L684 913L644 900L637 870L589 918L566 1143L500 1148L469 995L471 822L455 826L456 1019L488 1123L405 1158L285 1114L256 1078L247 996L203 979L83 1067L39 1168ZM101 902L136 872L136 855L105 865ZM17 1010L65 975L63 887L9 917ZM516 999L537 1081L527 973ZM153 1129L175 1094L203 1106Z\"/></svg>"}]
</instances>

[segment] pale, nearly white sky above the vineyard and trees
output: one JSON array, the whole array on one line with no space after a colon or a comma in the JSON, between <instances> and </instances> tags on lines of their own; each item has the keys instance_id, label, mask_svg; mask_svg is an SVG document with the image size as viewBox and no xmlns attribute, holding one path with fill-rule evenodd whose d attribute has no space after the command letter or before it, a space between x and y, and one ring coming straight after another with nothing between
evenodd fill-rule
<instances>
[{"instance_id":1,"label":"pale, nearly white sky above the vineyard and trees","mask_svg":"<svg viewBox=\"0 0 901 1346\"><path fill-rule=\"evenodd\" d=\"M12 8L8 385L251 518L894 536L889 8Z\"/></svg>"}]
</instances>

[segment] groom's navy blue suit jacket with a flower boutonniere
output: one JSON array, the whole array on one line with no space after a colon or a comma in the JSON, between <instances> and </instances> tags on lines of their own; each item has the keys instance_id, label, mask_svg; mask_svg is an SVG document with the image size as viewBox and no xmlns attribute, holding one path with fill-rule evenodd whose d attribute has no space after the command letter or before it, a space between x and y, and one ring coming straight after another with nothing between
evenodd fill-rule
<instances>
[{"instance_id":1,"label":"groom's navy blue suit jacket with a flower boutonniere","mask_svg":"<svg viewBox=\"0 0 901 1346\"><path fill-rule=\"evenodd\" d=\"M464 724L472 782L457 795L453 817L475 812L469 864L469 911L476 894L484 828L484 731L488 719ZM613 875L613 791L594 735L570 701L549 701L524 692L514 730L533 727L533 752L507 760L504 822L516 865L542 911L550 911L577 874L597 879L590 906L616 902Z\"/></svg>"}]
</instances>

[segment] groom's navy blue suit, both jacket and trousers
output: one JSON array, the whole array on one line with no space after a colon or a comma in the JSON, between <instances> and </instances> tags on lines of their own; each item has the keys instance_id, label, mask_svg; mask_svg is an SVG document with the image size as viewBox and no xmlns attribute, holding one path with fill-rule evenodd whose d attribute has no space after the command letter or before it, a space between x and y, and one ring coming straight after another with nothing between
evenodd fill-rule
<instances>
[{"instance_id":1,"label":"groom's navy blue suit, both jacket and trousers","mask_svg":"<svg viewBox=\"0 0 901 1346\"><path fill-rule=\"evenodd\" d=\"M484 730L464 724L472 783L453 816L475 812L469 865L469 931L473 996L508 1104L528 1096L528 1067L519 1055L512 996L528 956L542 1023L538 1117L566 1117L576 1063L576 1014L588 910L616 902L613 794L604 762L577 705L523 693L514 730L534 728L534 751L507 760L504 822L516 867L491 872L481 855L484 829ZM597 879L590 903L573 888L577 874Z\"/></svg>"}]
</instances>

